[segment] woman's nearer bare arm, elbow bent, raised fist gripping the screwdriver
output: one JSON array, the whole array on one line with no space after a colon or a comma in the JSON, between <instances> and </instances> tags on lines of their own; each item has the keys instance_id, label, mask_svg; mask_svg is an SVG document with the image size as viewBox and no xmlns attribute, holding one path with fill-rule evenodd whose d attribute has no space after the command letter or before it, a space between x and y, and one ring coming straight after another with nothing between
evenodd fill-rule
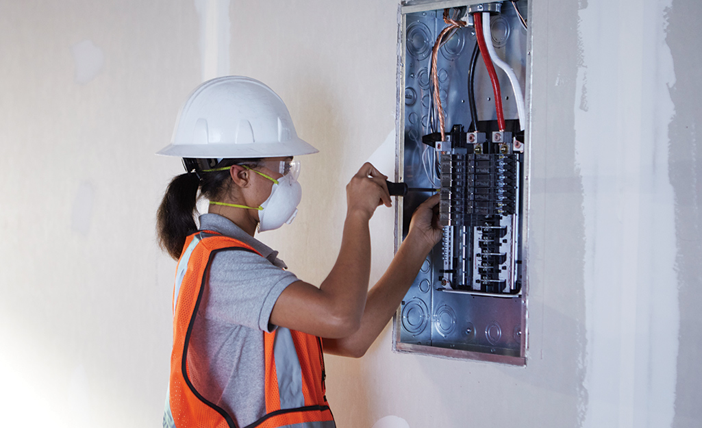
<instances>
[{"instance_id":1,"label":"woman's nearer bare arm, elbow bent, raised fist gripping the screwdriver","mask_svg":"<svg viewBox=\"0 0 702 428\"><path fill-rule=\"evenodd\" d=\"M296 281L278 297L270 322L321 337L358 330L371 272L368 222L380 203L390 206L385 175L364 164L346 187L347 213L336 264L319 288Z\"/></svg>"}]
</instances>

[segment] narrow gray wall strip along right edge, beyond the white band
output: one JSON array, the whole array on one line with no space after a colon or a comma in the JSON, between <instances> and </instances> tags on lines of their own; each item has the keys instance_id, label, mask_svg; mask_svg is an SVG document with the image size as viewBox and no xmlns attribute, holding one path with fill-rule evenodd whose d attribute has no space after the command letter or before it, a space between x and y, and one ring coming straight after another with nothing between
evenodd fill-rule
<instances>
[{"instance_id":1,"label":"narrow gray wall strip along right edge, beyond the white band","mask_svg":"<svg viewBox=\"0 0 702 428\"><path fill-rule=\"evenodd\" d=\"M699 427L702 382L699 353L702 349L702 156L696 128L702 123L702 39L695 22L702 2L674 0L668 10L668 35L675 64L675 85L670 98L675 117L668 126L668 174L675 192L677 287L680 305L679 349L673 427Z\"/></svg>"}]
</instances>

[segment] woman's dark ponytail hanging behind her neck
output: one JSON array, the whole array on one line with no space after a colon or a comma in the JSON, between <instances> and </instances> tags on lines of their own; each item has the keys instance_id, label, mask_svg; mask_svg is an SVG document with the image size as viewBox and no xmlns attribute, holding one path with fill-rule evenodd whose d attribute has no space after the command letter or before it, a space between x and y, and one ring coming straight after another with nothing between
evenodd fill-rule
<instances>
[{"instance_id":1,"label":"woman's dark ponytail hanging behind her neck","mask_svg":"<svg viewBox=\"0 0 702 428\"><path fill-rule=\"evenodd\" d=\"M157 211L159 246L176 260L183 251L185 238L197 231L194 214L199 187L200 179L194 173L176 175Z\"/></svg>"}]
</instances>

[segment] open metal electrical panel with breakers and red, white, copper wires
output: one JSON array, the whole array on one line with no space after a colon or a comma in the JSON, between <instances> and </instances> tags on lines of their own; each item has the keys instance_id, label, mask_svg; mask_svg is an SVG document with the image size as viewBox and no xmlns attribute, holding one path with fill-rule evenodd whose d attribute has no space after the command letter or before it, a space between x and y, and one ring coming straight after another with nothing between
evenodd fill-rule
<instances>
[{"instance_id":1,"label":"open metal electrical panel with breakers and red, white, copper wires","mask_svg":"<svg viewBox=\"0 0 702 428\"><path fill-rule=\"evenodd\" d=\"M404 1L401 13L397 178L441 194L443 238L398 309L394 347L523 365L527 0ZM399 239L430 194L398 204Z\"/></svg>"}]
</instances>

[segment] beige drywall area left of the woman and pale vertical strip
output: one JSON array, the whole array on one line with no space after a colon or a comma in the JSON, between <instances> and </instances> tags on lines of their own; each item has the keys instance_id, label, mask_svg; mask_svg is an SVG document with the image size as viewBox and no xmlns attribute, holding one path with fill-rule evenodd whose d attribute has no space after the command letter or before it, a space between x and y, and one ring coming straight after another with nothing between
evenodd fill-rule
<instances>
[{"instance_id":1,"label":"beige drywall area left of the woman and pale vertical strip","mask_svg":"<svg viewBox=\"0 0 702 428\"><path fill-rule=\"evenodd\" d=\"M3 426L159 425L154 213L182 167L153 154L201 80L199 34L192 0L0 1Z\"/></svg>"}]
</instances>

